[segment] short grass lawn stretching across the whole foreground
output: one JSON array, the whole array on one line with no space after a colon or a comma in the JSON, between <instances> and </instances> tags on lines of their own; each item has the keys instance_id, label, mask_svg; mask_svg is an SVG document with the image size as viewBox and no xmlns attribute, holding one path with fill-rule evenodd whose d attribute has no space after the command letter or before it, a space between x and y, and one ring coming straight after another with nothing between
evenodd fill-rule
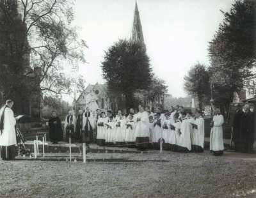
<instances>
[{"instance_id":1,"label":"short grass lawn stretching across the whole foreground","mask_svg":"<svg viewBox=\"0 0 256 198\"><path fill-rule=\"evenodd\" d=\"M86 164L0 160L0 197L256 197L253 157L165 152L90 153Z\"/></svg>"}]
</instances>

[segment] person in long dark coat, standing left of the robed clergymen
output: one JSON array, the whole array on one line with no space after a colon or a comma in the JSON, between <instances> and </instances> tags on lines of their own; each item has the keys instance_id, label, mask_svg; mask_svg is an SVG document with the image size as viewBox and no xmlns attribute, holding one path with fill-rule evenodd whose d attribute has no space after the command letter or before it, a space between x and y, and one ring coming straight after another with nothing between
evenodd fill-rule
<instances>
[{"instance_id":1,"label":"person in long dark coat, standing left of the robed clergymen","mask_svg":"<svg viewBox=\"0 0 256 198\"><path fill-rule=\"evenodd\" d=\"M49 137L52 143L57 144L58 141L63 140L63 131L61 128L60 118L56 115L56 112L52 112L52 116L49 119Z\"/></svg>"}]
</instances>

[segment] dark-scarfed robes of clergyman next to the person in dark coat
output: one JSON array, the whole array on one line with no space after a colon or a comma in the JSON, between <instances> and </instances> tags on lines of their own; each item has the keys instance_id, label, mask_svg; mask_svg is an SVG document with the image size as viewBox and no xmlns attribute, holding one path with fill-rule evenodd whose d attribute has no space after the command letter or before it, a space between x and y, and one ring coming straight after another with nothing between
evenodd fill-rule
<instances>
[{"instance_id":1,"label":"dark-scarfed robes of clergyman next to the person in dark coat","mask_svg":"<svg viewBox=\"0 0 256 198\"><path fill-rule=\"evenodd\" d=\"M76 124L76 117L72 115L71 113L68 114L65 118L65 136L66 136L66 142L69 142L69 139L71 139L72 142L75 140L75 124Z\"/></svg>"}]
</instances>

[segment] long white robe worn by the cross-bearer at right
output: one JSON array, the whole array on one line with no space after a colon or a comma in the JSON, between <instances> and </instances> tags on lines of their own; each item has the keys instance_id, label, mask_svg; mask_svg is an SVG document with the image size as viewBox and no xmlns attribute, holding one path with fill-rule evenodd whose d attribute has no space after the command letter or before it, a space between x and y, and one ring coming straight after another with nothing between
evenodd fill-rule
<instances>
[{"instance_id":1,"label":"long white robe worn by the cross-bearer at right","mask_svg":"<svg viewBox=\"0 0 256 198\"><path fill-rule=\"evenodd\" d=\"M210 151L223 151L223 128L224 118L222 115L213 116L213 127L210 135Z\"/></svg>"}]
</instances>

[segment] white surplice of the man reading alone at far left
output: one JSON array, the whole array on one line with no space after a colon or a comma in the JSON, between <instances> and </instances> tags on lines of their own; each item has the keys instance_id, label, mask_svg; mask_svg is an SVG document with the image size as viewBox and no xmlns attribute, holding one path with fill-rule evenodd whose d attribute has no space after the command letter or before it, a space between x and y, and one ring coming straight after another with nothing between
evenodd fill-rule
<instances>
[{"instance_id":1,"label":"white surplice of the man reading alone at far left","mask_svg":"<svg viewBox=\"0 0 256 198\"><path fill-rule=\"evenodd\" d=\"M3 114L4 107L0 109L0 120ZM0 146L12 146L17 144L15 132L16 119L13 111L9 107L4 110L4 129L0 132Z\"/></svg>"}]
</instances>

